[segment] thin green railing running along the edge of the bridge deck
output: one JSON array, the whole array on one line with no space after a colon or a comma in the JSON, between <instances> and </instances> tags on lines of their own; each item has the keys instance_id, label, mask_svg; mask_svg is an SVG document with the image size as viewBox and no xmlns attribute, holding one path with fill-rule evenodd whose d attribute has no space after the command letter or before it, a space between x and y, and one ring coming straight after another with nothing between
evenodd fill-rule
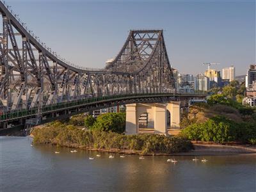
<instances>
[{"instance_id":1,"label":"thin green railing running along the edge of the bridge deck","mask_svg":"<svg viewBox=\"0 0 256 192\"><path fill-rule=\"evenodd\" d=\"M93 102L99 102L102 100L111 100L111 99L119 99L119 98L129 98L129 97L138 97L138 96L154 96L156 97L161 95L202 95L202 93L132 93L132 94L126 94L126 95L110 95L110 96L102 96L102 97L88 97L84 99L78 99L78 100L72 100L67 102L60 102L57 104L50 104L46 106L42 106L41 109L38 107L31 108L31 109L19 109L19 110L13 110L8 111L7 113L3 113L0 115L0 121L4 120L10 120L13 118L22 118L25 116L33 116L41 113L47 113L49 111L56 111L58 109L65 109L65 108L71 108L74 106L81 106L83 104L90 104Z\"/></svg>"}]
</instances>

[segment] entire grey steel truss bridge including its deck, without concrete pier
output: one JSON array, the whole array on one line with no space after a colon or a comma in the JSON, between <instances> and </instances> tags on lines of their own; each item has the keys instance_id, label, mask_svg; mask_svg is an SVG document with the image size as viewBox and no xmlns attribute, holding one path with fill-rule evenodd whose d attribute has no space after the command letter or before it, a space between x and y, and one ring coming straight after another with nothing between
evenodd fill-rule
<instances>
[{"instance_id":1,"label":"entire grey steel truss bridge including its deck, without concrete pier","mask_svg":"<svg viewBox=\"0 0 256 192\"><path fill-rule=\"evenodd\" d=\"M0 1L0 130L132 102L205 97L175 92L163 30L131 30L102 69L74 65L51 51Z\"/></svg>"}]
</instances>

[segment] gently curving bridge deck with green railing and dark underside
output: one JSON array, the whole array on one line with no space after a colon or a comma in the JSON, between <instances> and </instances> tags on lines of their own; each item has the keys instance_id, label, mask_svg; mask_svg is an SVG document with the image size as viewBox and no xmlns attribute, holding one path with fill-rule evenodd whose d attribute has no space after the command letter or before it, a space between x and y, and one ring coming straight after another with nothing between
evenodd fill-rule
<instances>
[{"instance_id":1,"label":"gently curving bridge deck with green railing and dark underside","mask_svg":"<svg viewBox=\"0 0 256 192\"><path fill-rule=\"evenodd\" d=\"M138 93L127 95L112 95L72 100L42 106L42 108L20 109L8 111L0 116L0 134L5 129L25 125L33 127L53 120L68 118L72 115L93 111L95 109L109 108L131 103L154 103L180 100L181 105L188 106L190 99L205 98L204 93Z\"/></svg>"}]
</instances>

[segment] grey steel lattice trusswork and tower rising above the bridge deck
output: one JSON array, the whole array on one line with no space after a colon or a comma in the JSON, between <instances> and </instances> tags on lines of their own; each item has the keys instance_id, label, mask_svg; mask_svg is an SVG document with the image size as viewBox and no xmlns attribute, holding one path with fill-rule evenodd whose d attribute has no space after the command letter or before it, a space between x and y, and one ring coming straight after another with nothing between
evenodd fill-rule
<instances>
[{"instance_id":1,"label":"grey steel lattice trusswork and tower rising above the bridge deck","mask_svg":"<svg viewBox=\"0 0 256 192\"><path fill-rule=\"evenodd\" d=\"M101 70L88 70L45 48L2 2L0 12L0 110L40 110L86 97L173 90L163 30L130 31L115 60Z\"/></svg>"}]
</instances>

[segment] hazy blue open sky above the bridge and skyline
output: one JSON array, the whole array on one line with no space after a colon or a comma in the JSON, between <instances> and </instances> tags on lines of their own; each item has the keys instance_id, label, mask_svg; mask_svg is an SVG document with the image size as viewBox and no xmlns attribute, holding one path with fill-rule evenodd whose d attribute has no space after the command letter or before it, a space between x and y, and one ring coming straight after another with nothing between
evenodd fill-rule
<instances>
[{"instance_id":1,"label":"hazy blue open sky above the bridge and skyline","mask_svg":"<svg viewBox=\"0 0 256 192\"><path fill-rule=\"evenodd\" d=\"M204 62L255 63L255 1L6 1L53 51L84 67L102 68L130 29L164 29L168 56L184 74Z\"/></svg>"}]
</instances>

